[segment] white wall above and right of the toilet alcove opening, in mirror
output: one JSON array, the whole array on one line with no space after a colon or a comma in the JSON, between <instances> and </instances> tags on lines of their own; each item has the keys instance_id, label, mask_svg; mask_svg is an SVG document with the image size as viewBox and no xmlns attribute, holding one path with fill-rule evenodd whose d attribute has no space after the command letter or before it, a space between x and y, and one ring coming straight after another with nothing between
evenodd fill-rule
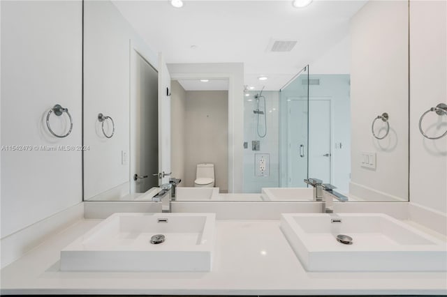
<instances>
[{"instance_id":1,"label":"white wall above and right of the toilet alcove opening, in mirror","mask_svg":"<svg viewBox=\"0 0 447 297\"><path fill-rule=\"evenodd\" d=\"M172 79L228 78L228 192L242 192L244 139L244 64L168 64Z\"/></svg>"}]
</instances>

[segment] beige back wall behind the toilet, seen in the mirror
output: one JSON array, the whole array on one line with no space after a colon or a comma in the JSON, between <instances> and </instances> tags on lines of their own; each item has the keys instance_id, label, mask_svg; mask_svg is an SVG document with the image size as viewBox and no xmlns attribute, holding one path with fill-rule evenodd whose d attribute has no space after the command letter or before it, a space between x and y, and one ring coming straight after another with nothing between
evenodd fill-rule
<instances>
[{"instance_id":1,"label":"beige back wall behind the toilet, seen in the mirror","mask_svg":"<svg viewBox=\"0 0 447 297\"><path fill-rule=\"evenodd\" d=\"M184 186L200 163L214 164L215 187L228 191L228 91L186 91Z\"/></svg>"}]
</instances>

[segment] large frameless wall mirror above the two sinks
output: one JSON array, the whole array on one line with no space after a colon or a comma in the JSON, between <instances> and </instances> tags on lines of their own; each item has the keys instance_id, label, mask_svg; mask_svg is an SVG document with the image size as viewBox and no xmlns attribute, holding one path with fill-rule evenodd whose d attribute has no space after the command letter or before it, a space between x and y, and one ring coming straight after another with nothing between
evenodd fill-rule
<instances>
[{"instance_id":1,"label":"large frameless wall mirror above the two sinks","mask_svg":"<svg viewBox=\"0 0 447 297\"><path fill-rule=\"evenodd\" d=\"M276 35L265 36L264 46L254 34L270 58L255 65L254 52L242 61L240 96L231 97L234 82L225 73L172 72L182 63L241 62L207 59L213 36L198 30L185 41L173 27L201 17L223 30L232 17L215 20L238 11L234 22L249 36L253 22L237 18L251 6L260 22L268 20L266 34ZM277 52L265 49L279 36ZM241 42L234 39L236 53ZM167 88L158 51L173 75ZM295 71L269 73L284 55ZM232 141L231 129L243 131L242 143ZM85 201L141 201L170 177L182 179L179 201L312 201L306 178L335 185L349 201L408 201L409 3L314 1L297 12L291 1L188 1L178 9L169 1L86 0L83 133ZM233 153L243 162L231 165ZM161 165L167 155L168 167ZM230 185L235 168L243 172L238 191Z\"/></svg>"}]
</instances>

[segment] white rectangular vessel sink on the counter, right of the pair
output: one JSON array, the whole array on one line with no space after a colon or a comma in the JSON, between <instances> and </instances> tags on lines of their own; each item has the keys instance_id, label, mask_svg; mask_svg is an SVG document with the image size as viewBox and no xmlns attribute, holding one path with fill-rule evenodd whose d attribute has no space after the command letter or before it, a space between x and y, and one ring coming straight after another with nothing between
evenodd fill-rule
<instances>
[{"instance_id":1,"label":"white rectangular vessel sink on the counter, right of the pair","mask_svg":"<svg viewBox=\"0 0 447 297\"><path fill-rule=\"evenodd\" d=\"M447 271L445 242L384 214L281 214L281 230L307 271Z\"/></svg>"}]
</instances>

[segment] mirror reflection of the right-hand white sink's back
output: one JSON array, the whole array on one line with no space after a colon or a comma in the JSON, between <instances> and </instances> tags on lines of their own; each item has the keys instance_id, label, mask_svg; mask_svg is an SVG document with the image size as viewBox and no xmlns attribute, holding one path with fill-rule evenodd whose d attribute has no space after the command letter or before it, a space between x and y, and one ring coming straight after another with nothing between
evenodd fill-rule
<instances>
[{"instance_id":1,"label":"mirror reflection of the right-hand white sink's back","mask_svg":"<svg viewBox=\"0 0 447 297\"><path fill-rule=\"evenodd\" d=\"M312 201L313 188L263 188L261 197L265 201Z\"/></svg>"}]
</instances>

